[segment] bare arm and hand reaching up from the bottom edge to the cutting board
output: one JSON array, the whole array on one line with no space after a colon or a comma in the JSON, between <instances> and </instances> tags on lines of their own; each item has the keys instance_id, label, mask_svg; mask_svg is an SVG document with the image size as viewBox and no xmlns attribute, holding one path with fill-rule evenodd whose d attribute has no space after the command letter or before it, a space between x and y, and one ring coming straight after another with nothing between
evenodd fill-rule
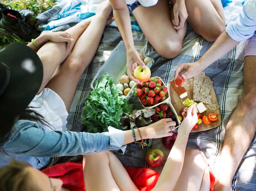
<instances>
[{"instance_id":1,"label":"bare arm and hand reaching up from the bottom edge to the cutting board","mask_svg":"<svg viewBox=\"0 0 256 191\"><path fill-rule=\"evenodd\" d=\"M197 113L192 105L187 110L187 117L183 120L178 129L177 139L169 153L157 184L152 191L174 189L183 167L189 133L197 122Z\"/></svg>"}]
</instances>

